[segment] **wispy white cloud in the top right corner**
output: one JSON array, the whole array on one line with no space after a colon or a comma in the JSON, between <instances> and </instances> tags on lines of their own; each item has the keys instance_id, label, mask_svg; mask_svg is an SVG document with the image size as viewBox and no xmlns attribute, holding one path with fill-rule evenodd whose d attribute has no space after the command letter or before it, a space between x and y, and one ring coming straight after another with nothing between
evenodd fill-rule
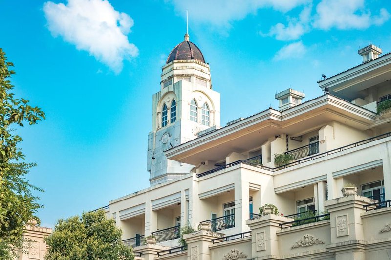
<instances>
[{"instance_id":1,"label":"wispy white cloud in the top right corner","mask_svg":"<svg viewBox=\"0 0 391 260\"><path fill-rule=\"evenodd\" d=\"M333 27L340 30L366 29L371 25L381 25L390 18L386 9L379 16L371 16L365 8L364 0L322 0L316 7L313 26L323 30Z\"/></svg>"}]
</instances>

